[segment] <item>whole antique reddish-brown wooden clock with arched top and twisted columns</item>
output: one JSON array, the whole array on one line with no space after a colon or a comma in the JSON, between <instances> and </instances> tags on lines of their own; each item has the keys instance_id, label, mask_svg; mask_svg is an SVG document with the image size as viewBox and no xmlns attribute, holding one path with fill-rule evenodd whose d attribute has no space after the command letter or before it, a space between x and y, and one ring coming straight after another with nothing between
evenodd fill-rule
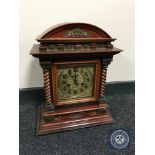
<instances>
[{"instance_id":1,"label":"whole antique reddish-brown wooden clock with arched top and twisted columns","mask_svg":"<svg viewBox=\"0 0 155 155\"><path fill-rule=\"evenodd\" d=\"M113 55L108 33L86 23L51 27L36 39L30 54L43 69L45 101L38 108L37 135L112 123L105 98Z\"/></svg>"}]
</instances>

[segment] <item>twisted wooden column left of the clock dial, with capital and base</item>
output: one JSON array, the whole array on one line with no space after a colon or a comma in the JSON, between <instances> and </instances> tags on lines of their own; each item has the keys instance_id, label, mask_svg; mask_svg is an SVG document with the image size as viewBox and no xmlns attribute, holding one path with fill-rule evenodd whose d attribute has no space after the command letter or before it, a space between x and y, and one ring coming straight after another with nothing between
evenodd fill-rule
<instances>
[{"instance_id":1,"label":"twisted wooden column left of the clock dial, with capital and base","mask_svg":"<svg viewBox=\"0 0 155 155\"><path fill-rule=\"evenodd\" d=\"M51 78L51 62L40 62L40 65L43 69L43 78L44 78L44 94L45 94L45 109L54 109L54 105L52 103L52 85L50 83Z\"/></svg>"}]
</instances>

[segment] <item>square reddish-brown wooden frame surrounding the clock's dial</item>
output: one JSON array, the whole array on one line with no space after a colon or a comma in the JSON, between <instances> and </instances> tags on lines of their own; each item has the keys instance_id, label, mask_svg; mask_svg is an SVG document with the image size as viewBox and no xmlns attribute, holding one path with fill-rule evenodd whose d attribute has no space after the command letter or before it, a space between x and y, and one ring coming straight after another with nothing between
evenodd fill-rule
<instances>
[{"instance_id":1,"label":"square reddish-brown wooden frame surrounding the clock's dial","mask_svg":"<svg viewBox=\"0 0 155 155\"><path fill-rule=\"evenodd\" d=\"M58 67L61 65L85 65L94 64L95 65L95 79L93 86L93 96L88 98L72 99L69 101L59 101L58 100ZM100 60L80 60L80 61L61 61L54 62L52 64L52 85L53 85L53 102L55 105L68 105L77 104L85 102L97 102L99 98L99 84L100 84Z\"/></svg>"}]
</instances>

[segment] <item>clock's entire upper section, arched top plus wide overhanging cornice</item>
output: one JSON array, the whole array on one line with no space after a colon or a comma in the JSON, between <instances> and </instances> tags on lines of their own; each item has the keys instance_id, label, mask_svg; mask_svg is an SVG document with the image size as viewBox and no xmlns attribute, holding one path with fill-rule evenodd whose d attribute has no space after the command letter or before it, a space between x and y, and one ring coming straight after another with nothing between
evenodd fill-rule
<instances>
[{"instance_id":1,"label":"clock's entire upper section, arched top plus wide overhanging cornice","mask_svg":"<svg viewBox=\"0 0 155 155\"><path fill-rule=\"evenodd\" d=\"M87 23L65 23L52 26L36 39L40 44L34 45L31 54L35 57L61 59L66 58L100 57L114 55L122 50L113 47L116 40L101 28ZM64 58L63 57L63 58Z\"/></svg>"}]
</instances>

